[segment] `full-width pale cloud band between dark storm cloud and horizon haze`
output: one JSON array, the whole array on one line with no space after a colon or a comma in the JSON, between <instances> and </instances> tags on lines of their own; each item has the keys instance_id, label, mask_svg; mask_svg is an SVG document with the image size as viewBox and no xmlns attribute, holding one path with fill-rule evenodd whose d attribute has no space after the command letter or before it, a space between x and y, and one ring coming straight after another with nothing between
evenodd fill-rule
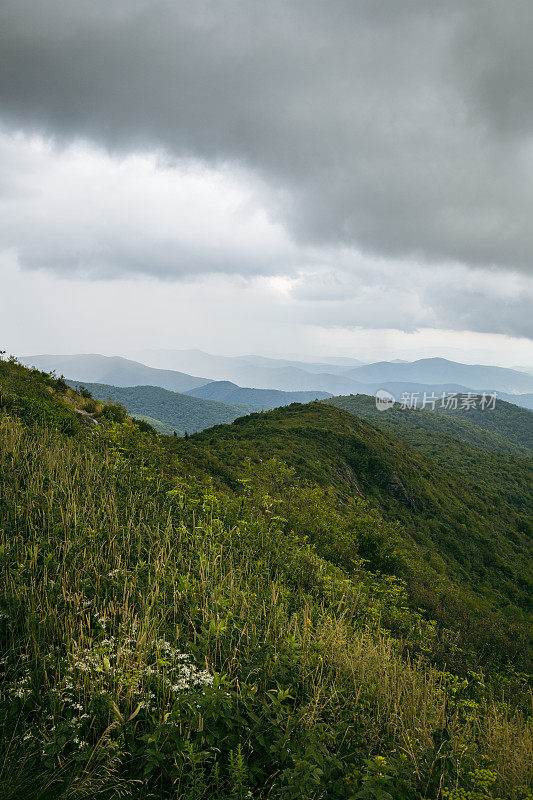
<instances>
[{"instance_id":1,"label":"full-width pale cloud band between dark storm cloud and horizon haze","mask_svg":"<svg viewBox=\"0 0 533 800\"><path fill-rule=\"evenodd\" d=\"M244 302L255 304L257 319L274 319L277 303L287 322L324 329L533 337L528 276L455 263L428 269L340 245L298 244L269 217L264 185L247 177L197 161L113 157L87 144L57 148L0 132L5 263L76 278L78 285L134 278L141 296L150 278L201 280L200 314L205 281L218 275L225 303L232 296L237 302L232 279L250 287Z\"/></svg>"}]
</instances>

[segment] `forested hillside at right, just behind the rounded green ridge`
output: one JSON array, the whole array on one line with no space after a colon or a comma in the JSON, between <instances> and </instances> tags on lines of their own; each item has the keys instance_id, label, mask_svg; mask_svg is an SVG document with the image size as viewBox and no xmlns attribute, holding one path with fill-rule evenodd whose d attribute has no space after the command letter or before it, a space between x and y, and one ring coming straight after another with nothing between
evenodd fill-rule
<instances>
[{"instance_id":1,"label":"forested hillside at right, just behind the rounded green ridge","mask_svg":"<svg viewBox=\"0 0 533 800\"><path fill-rule=\"evenodd\" d=\"M387 411L378 411L375 399L362 394L333 397L324 402L372 420L410 444L419 444L420 431L434 431L497 453L518 456L533 453L533 412L503 400L497 400L490 410L477 405L468 410L438 407L435 411L401 409L398 403Z\"/></svg>"}]
</instances>

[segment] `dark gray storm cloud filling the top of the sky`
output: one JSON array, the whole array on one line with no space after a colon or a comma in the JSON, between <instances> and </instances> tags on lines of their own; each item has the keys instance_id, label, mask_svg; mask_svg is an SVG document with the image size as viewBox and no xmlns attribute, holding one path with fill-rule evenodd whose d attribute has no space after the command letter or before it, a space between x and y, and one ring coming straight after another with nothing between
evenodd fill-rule
<instances>
[{"instance_id":1,"label":"dark gray storm cloud filling the top of the sky","mask_svg":"<svg viewBox=\"0 0 533 800\"><path fill-rule=\"evenodd\" d=\"M529 0L3 0L1 118L264 181L304 245L530 272Z\"/></svg>"}]
</instances>

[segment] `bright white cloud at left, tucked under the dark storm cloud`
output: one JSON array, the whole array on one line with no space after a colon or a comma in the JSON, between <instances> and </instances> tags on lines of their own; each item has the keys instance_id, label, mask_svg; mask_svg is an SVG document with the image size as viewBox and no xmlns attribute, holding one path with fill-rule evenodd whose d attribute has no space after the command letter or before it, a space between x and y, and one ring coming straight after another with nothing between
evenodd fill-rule
<instances>
[{"instance_id":1,"label":"bright white cloud at left, tucked under the dark storm cloud","mask_svg":"<svg viewBox=\"0 0 533 800\"><path fill-rule=\"evenodd\" d=\"M302 254L256 191L197 162L0 132L0 242L27 268L163 280L290 270Z\"/></svg>"}]
</instances>

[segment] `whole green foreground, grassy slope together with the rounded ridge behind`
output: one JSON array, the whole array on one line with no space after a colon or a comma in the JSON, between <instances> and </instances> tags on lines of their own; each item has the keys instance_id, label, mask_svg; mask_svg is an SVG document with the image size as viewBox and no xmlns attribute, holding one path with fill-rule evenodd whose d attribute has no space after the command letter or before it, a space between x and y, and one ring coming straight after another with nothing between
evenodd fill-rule
<instances>
[{"instance_id":1,"label":"whole green foreground, grassy slope together with the rounded ridge behind","mask_svg":"<svg viewBox=\"0 0 533 800\"><path fill-rule=\"evenodd\" d=\"M532 800L527 484L476 480L332 406L185 440L0 360L0 796Z\"/></svg>"}]
</instances>

